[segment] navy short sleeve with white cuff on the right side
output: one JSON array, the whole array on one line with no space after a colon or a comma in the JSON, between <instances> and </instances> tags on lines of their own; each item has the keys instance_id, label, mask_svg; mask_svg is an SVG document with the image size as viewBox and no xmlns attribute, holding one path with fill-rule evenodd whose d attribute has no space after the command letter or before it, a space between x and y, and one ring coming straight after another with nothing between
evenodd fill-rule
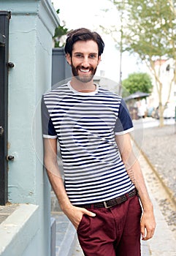
<instances>
[{"instance_id":1,"label":"navy short sleeve with white cuff on the right side","mask_svg":"<svg viewBox=\"0 0 176 256\"><path fill-rule=\"evenodd\" d=\"M118 119L115 123L115 135L123 135L134 130L129 110L123 99L120 102Z\"/></svg>"}]
</instances>

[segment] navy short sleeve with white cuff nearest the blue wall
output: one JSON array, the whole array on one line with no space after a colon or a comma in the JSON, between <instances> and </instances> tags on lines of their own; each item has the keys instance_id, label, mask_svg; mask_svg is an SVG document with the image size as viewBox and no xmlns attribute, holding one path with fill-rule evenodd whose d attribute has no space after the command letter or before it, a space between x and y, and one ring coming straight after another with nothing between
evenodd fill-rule
<instances>
[{"instance_id":1,"label":"navy short sleeve with white cuff nearest the blue wall","mask_svg":"<svg viewBox=\"0 0 176 256\"><path fill-rule=\"evenodd\" d=\"M53 126L53 122L48 113L47 106L45 105L44 98L42 97L42 133L43 138L55 139L58 138L56 129Z\"/></svg>"}]
</instances>

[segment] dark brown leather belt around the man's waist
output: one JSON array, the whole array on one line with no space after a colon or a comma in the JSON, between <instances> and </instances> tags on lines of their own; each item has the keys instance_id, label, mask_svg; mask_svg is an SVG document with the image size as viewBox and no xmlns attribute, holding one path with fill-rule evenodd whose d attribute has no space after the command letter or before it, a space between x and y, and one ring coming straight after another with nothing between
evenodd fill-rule
<instances>
[{"instance_id":1,"label":"dark brown leather belt around the man's waist","mask_svg":"<svg viewBox=\"0 0 176 256\"><path fill-rule=\"evenodd\" d=\"M100 203L88 203L88 204L77 206L77 207L83 207L83 208L110 208L110 207L117 206L120 203L125 202L126 200L129 199L129 197L134 197L134 195L137 195L137 189L133 189L130 192L128 192L124 195L120 195L120 197L116 197L116 198L111 199L111 200L107 200L107 201L100 202Z\"/></svg>"}]
</instances>

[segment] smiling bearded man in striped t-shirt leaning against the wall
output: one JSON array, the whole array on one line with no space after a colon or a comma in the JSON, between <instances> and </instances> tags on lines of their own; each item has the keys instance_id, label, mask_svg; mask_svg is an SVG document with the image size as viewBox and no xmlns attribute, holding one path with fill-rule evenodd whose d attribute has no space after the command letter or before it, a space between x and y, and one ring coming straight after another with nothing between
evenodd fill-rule
<instances>
[{"instance_id":1,"label":"smiling bearded man in striped t-shirt leaning against the wall","mask_svg":"<svg viewBox=\"0 0 176 256\"><path fill-rule=\"evenodd\" d=\"M126 105L93 83L103 50L96 32L76 29L68 34L65 53L72 80L42 99L45 167L85 255L139 256L141 233L148 240L156 223L131 148L133 126Z\"/></svg>"}]
</instances>

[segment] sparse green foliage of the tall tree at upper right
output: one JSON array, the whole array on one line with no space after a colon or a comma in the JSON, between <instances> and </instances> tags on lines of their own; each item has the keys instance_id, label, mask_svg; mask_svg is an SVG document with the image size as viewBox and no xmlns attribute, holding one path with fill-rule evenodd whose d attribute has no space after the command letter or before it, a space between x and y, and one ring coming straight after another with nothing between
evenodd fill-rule
<instances>
[{"instance_id":1,"label":"sparse green foliage of the tall tree at upper right","mask_svg":"<svg viewBox=\"0 0 176 256\"><path fill-rule=\"evenodd\" d=\"M123 48L141 59L175 57L176 16L169 0L118 1L123 8ZM171 47L172 45L172 47ZM174 48L173 48L174 46Z\"/></svg>"}]
</instances>

